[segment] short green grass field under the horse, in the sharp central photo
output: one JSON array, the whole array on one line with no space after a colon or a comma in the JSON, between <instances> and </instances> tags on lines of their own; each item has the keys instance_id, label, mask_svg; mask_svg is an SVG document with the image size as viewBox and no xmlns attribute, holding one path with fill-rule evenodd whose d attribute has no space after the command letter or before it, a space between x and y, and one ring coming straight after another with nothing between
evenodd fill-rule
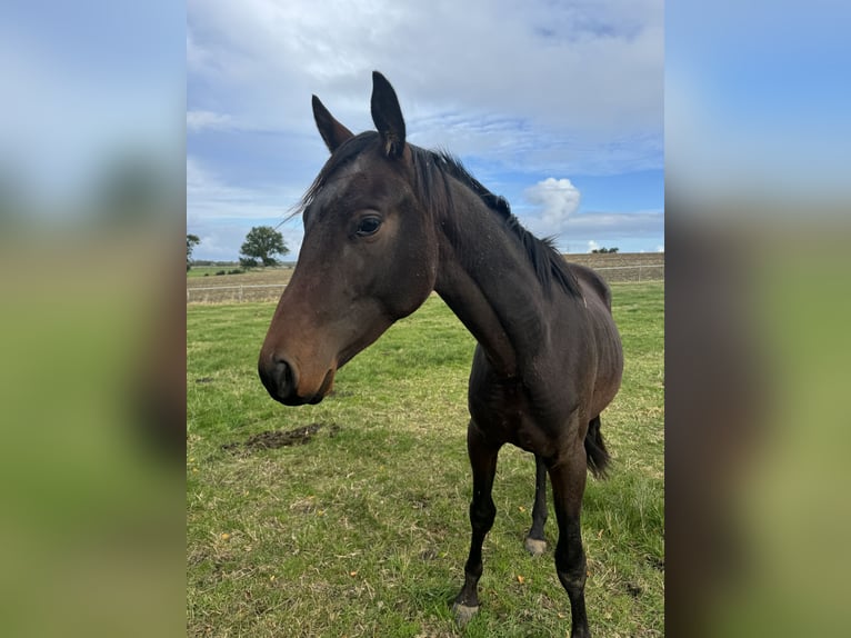
<instances>
[{"instance_id":1,"label":"short green grass field under the horse, in the sharp central photo","mask_svg":"<svg viewBox=\"0 0 851 638\"><path fill-rule=\"evenodd\" d=\"M598 637L663 634L663 283L613 285L627 368L603 412L611 478L589 479L587 601ZM534 461L500 453L482 607L449 608L469 542L467 377L473 340L432 296L284 408L256 371L273 302L187 307L190 636L565 636L548 552L523 549ZM306 428L284 440L282 431ZM311 436L312 435L312 436ZM303 442L270 447L284 442Z\"/></svg>"}]
</instances>

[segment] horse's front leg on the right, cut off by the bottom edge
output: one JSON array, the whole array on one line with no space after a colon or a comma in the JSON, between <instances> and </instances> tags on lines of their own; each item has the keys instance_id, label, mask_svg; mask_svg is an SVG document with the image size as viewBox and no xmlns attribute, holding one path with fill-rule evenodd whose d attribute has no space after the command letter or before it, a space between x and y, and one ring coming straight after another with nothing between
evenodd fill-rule
<instances>
[{"instance_id":1,"label":"horse's front leg on the right, cut off by the bottom edge","mask_svg":"<svg viewBox=\"0 0 851 638\"><path fill-rule=\"evenodd\" d=\"M570 598L570 636L588 638L591 634L585 615L585 552L582 549L579 520L588 471L582 442L551 462L549 470L555 518L559 521L555 571Z\"/></svg>"}]
</instances>

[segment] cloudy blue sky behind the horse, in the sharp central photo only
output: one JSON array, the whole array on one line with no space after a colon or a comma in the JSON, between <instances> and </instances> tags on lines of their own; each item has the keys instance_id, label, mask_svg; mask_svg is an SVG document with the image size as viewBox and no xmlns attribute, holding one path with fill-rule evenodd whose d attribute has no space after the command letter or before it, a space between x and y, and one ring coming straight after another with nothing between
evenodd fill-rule
<instances>
[{"instance_id":1,"label":"cloudy blue sky behind the horse, in the sharp central photo only","mask_svg":"<svg viewBox=\"0 0 851 638\"><path fill-rule=\"evenodd\" d=\"M371 73L408 141L458 156L564 252L664 249L663 3L189 0L187 232L234 260L324 163L311 94L372 130ZM283 222L283 223L282 223Z\"/></svg>"}]
</instances>

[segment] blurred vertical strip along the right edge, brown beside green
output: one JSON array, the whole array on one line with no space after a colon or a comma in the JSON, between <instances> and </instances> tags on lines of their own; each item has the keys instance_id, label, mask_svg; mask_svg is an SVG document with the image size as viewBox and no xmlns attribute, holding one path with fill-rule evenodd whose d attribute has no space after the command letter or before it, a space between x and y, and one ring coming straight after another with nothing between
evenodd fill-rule
<instances>
[{"instance_id":1,"label":"blurred vertical strip along the right edge, brown beside green","mask_svg":"<svg viewBox=\"0 0 851 638\"><path fill-rule=\"evenodd\" d=\"M851 11L665 11L671 636L851 627Z\"/></svg>"}]
</instances>

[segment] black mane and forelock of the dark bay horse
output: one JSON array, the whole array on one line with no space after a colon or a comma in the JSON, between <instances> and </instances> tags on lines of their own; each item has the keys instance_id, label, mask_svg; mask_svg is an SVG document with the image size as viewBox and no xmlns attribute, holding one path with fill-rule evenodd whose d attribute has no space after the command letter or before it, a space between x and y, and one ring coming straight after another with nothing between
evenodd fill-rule
<instances>
[{"instance_id":1,"label":"black mane and forelock of the dark bay horse","mask_svg":"<svg viewBox=\"0 0 851 638\"><path fill-rule=\"evenodd\" d=\"M378 149L379 147L379 134L374 131L363 132L348 139L334 151L328 162L326 162L326 166L322 167L317 179L307 193L304 193L300 208L302 210L307 209L319 190L343 166L354 161L357 157L368 149ZM413 159L418 196L427 201L430 208L441 210L447 213L448 219L452 219L451 211L454 207L447 177L457 179L472 190L490 210L495 212L502 219L505 228L518 238L544 291L548 291L551 281L555 280L569 295L578 298L582 297L575 276L571 272L564 258L555 250L553 238L539 239L523 228L520 220L511 212L508 200L504 197L493 195L484 188L479 180L468 172L461 161L451 153L430 151L413 144L408 144L408 147L411 149Z\"/></svg>"}]
</instances>

